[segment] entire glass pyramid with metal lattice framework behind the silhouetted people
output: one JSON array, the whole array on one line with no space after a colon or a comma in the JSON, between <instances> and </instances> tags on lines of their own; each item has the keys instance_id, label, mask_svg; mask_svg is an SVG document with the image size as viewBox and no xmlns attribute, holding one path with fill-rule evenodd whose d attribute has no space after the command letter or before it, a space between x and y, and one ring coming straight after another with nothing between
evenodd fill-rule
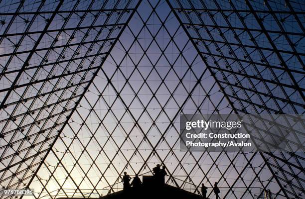
<instances>
[{"instance_id":1,"label":"entire glass pyramid with metal lattice framework behind the silhouetted people","mask_svg":"<svg viewBox=\"0 0 305 199\"><path fill-rule=\"evenodd\" d=\"M0 0L0 188L99 197L162 163L198 194L303 198L304 151L181 152L179 115L304 114L304 21L297 0Z\"/></svg>"}]
</instances>

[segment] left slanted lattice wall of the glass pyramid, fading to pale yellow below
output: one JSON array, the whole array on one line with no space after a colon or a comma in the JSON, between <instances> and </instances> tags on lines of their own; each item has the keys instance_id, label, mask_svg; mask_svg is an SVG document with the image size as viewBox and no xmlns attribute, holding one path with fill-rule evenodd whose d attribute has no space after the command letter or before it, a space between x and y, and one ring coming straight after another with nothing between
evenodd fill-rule
<instances>
[{"instance_id":1,"label":"left slanted lattice wall of the glass pyramid, fading to pale yellow below","mask_svg":"<svg viewBox=\"0 0 305 199\"><path fill-rule=\"evenodd\" d=\"M30 184L134 7L0 2L1 187Z\"/></svg>"}]
</instances>

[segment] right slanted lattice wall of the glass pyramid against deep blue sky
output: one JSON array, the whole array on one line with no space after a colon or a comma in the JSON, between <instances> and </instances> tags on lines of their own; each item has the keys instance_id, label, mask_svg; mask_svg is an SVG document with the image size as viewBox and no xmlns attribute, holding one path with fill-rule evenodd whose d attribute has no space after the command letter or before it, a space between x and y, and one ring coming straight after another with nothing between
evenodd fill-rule
<instances>
[{"instance_id":1,"label":"right slanted lattice wall of the glass pyramid against deep blue sky","mask_svg":"<svg viewBox=\"0 0 305 199\"><path fill-rule=\"evenodd\" d=\"M190 0L170 4L235 110L304 113L304 3ZM285 196L300 197L304 153L262 155Z\"/></svg>"}]
</instances>

